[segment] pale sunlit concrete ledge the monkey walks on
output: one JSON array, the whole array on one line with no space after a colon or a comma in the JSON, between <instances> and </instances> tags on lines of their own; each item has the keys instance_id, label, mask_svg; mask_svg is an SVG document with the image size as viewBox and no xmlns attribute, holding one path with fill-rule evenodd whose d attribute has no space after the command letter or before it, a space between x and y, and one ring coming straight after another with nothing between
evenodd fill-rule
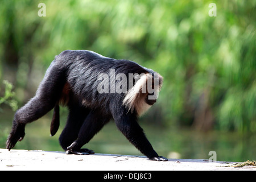
<instances>
[{"instance_id":1,"label":"pale sunlit concrete ledge the monkey walks on","mask_svg":"<svg viewBox=\"0 0 256 182\"><path fill-rule=\"evenodd\" d=\"M171 170L256 170L256 167L230 167L233 162L203 159L168 159L155 162L145 156L94 154L66 155L65 152L28 151L0 148L3 170L97 170L97 171L171 171Z\"/></svg>"}]
</instances>

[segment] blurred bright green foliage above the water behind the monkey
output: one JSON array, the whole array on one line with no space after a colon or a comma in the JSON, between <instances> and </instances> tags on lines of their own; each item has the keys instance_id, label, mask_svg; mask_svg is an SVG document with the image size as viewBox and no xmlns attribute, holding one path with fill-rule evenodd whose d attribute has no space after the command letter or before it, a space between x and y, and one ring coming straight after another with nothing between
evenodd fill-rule
<instances>
[{"instance_id":1,"label":"blurred bright green foliage above the water behind the monkey","mask_svg":"<svg viewBox=\"0 0 256 182\"><path fill-rule=\"evenodd\" d=\"M216 17L208 15L212 2ZM61 51L90 49L164 76L147 120L256 131L255 1L44 1L46 17L38 16L39 3L3 0L0 6L0 67L9 64L12 41L19 94L31 90L31 79Z\"/></svg>"}]
</instances>

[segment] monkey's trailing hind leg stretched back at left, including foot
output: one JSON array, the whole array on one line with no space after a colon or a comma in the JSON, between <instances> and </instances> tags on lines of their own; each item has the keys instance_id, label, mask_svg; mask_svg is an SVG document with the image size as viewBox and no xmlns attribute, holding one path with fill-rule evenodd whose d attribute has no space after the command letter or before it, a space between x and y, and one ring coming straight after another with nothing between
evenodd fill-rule
<instances>
[{"instance_id":1,"label":"monkey's trailing hind leg stretched back at left, including foot","mask_svg":"<svg viewBox=\"0 0 256 182\"><path fill-rule=\"evenodd\" d=\"M60 69L53 61L40 83L35 97L16 111L13 127L6 142L6 148L9 150L15 146L18 140L21 141L24 138L26 124L48 113L59 100L65 84L65 74Z\"/></svg>"}]
</instances>

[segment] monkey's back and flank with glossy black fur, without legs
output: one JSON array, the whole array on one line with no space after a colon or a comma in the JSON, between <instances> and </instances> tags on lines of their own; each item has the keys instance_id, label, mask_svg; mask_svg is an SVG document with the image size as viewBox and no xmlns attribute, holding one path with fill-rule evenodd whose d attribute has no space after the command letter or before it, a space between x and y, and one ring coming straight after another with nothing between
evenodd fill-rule
<instances>
[{"instance_id":1,"label":"monkey's back and flank with glossy black fur, without legs","mask_svg":"<svg viewBox=\"0 0 256 182\"><path fill-rule=\"evenodd\" d=\"M129 73L138 73L138 75L154 73L151 69L144 68L133 61L116 60L93 51L63 51L55 57L55 61L59 67L67 68L67 83L74 97L83 98L79 101L80 104L91 109L121 107L124 98L125 93L98 92L97 87L101 83L101 80L98 80L98 75L101 73L105 73L109 77L109 91L112 86L115 86L111 82L110 69L114 69L115 75L123 73L127 78ZM126 82L126 84L128 83ZM127 86L126 91L128 89Z\"/></svg>"}]
</instances>

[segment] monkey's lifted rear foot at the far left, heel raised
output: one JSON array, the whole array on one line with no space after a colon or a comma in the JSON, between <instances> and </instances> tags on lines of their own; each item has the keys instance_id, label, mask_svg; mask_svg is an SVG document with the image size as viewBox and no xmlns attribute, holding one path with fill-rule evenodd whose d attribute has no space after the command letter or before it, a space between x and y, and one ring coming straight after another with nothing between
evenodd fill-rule
<instances>
[{"instance_id":1,"label":"monkey's lifted rear foot at the far left, heel raised","mask_svg":"<svg viewBox=\"0 0 256 182\"><path fill-rule=\"evenodd\" d=\"M18 141L21 141L25 135L25 124L13 122L11 133L6 142L6 148L10 151Z\"/></svg>"}]
</instances>

